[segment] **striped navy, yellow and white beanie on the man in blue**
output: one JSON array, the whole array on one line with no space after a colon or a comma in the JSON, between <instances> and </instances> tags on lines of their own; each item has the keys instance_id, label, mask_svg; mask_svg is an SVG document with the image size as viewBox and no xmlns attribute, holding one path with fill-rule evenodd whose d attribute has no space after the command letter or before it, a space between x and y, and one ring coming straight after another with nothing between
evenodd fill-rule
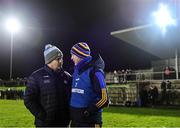
<instances>
[{"instance_id":1,"label":"striped navy, yellow and white beanie on the man in blue","mask_svg":"<svg viewBox=\"0 0 180 128\"><path fill-rule=\"evenodd\" d=\"M85 42L77 43L71 48L71 54L74 54L81 59L90 56L90 53L90 48Z\"/></svg>"}]
</instances>

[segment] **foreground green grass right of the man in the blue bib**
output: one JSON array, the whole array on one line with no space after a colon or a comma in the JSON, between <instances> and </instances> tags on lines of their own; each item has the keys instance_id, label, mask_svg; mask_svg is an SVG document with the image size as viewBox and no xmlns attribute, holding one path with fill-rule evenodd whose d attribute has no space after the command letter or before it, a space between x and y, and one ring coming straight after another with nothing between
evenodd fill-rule
<instances>
[{"instance_id":1,"label":"foreground green grass right of the man in the blue bib","mask_svg":"<svg viewBox=\"0 0 180 128\"><path fill-rule=\"evenodd\" d=\"M180 110L110 107L103 122L106 127L180 127Z\"/></svg>"}]
</instances>

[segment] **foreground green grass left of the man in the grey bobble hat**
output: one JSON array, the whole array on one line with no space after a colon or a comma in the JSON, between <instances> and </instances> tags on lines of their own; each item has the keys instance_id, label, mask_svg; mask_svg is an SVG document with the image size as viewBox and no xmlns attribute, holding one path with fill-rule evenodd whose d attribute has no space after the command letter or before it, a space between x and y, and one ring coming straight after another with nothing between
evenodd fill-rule
<instances>
[{"instance_id":1,"label":"foreground green grass left of the man in the grey bobble hat","mask_svg":"<svg viewBox=\"0 0 180 128\"><path fill-rule=\"evenodd\" d=\"M32 127L33 116L22 100L0 100L0 127Z\"/></svg>"}]
</instances>

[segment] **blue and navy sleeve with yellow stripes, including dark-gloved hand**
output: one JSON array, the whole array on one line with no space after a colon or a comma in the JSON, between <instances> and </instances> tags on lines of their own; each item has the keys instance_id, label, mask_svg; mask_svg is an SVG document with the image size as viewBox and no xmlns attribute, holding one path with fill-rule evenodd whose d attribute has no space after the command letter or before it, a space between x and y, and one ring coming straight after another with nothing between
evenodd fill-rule
<instances>
[{"instance_id":1,"label":"blue and navy sleeve with yellow stripes, including dark-gloved hand","mask_svg":"<svg viewBox=\"0 0 180 128\"><path fill-rule=\"evenodd\" d=\"M93 90L97 95L96 102L88 106L89 113L97 112L103 107L108 106L108 94L104 74L101 71L96 71L92 77Z\"/></svg>"}]
</instances>

